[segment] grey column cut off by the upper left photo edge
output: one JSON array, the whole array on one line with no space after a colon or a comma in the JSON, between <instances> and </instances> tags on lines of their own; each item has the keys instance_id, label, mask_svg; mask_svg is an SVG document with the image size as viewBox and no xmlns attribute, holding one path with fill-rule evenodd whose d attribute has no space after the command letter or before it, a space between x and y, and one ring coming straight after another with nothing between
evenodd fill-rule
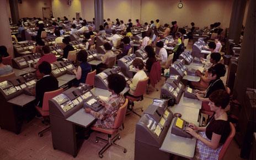
<instances>
[{"instance_id":1,"label":"grey column cut off by the upper left photo edge","mask_svg":"<svg viewBox=\"0 0 256 160\"><path fill-rule=\"evenodd\" d=\"M8 53L10 56L13 57L13 44L12 44L12 38L10 35L10 26L9 26L9 17L8 17L8 12L7 12L7 2L2 1L0 5L0 44L1 46L6 46L8 49Z\"/></svg>"}]
</instances>

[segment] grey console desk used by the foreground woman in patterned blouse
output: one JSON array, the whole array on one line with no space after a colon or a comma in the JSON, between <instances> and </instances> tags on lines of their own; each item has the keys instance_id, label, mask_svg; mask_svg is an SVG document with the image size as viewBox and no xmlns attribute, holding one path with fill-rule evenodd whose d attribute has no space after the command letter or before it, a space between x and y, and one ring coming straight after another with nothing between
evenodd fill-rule
<instances>
[{"instance_id":1,"label":"grey console desk used by the foreground woman in patterned blouse","mask_svg":"<svg viewBox=\"0 0 256 160\"><path fill-rule=\"evenodd\" d=\"M84 107L97 111L97 97L86 86L70 88L49 101L52 145L76 157L84 138L84 128L95 121ZM98 106L102 107L102 106Z\"/></svg>"}]
</instances>

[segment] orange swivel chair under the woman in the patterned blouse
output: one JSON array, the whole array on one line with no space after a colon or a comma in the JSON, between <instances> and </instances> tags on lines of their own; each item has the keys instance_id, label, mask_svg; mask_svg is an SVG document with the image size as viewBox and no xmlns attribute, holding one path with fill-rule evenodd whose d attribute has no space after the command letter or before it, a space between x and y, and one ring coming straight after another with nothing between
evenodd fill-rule
<instances>
[{"instance_id":1,"label":"orange swivel chair under the woman in the patterned blouse","mask_svg":"<svg viewBox=\"0 0 256 160\"><path fill-rule=\"evenodd\" d=\"M115 141L118 139L119 140L121 139L120 134L118 133L118 130L119 128L122 127L122 124L124 123L127 104L128 104L128 100L126 98L125 103L119 108L118 113L116 115L114 129L103 129L103 128L92 126L91 128L92 130L108 134L108 140L105 140L101 137L96 137L96 140L95 140L96 143L98 143L99 140L107 142L107 144L98 153L100 158L103 158L103 153L112 145L122 148L122 150L124 150L124 153L126 153L126 149L122 146L119 146L118 144L115 144ZM115 133L118 133L118 134L116 134L113 138L111 138Z\"/></svg>"}]
</instances>

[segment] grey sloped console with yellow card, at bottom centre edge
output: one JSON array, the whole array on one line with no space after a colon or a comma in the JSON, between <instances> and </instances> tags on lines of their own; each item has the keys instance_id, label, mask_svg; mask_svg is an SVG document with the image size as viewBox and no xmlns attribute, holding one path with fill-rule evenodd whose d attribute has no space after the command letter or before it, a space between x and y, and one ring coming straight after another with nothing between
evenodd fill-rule
<instances>
[{"instance_id":1,"label":"grey sloped console with yellow card, at bottom centre edge","mask_svg":"<svg viewBox=\"0 0 256 160\"><path fill-rule=\"evenodd\" d=\"M160 151L164 138L173 120L167 106L151 104L136 124L135 160L169 159L170 153Z\"/></svg>"}]
</instances>

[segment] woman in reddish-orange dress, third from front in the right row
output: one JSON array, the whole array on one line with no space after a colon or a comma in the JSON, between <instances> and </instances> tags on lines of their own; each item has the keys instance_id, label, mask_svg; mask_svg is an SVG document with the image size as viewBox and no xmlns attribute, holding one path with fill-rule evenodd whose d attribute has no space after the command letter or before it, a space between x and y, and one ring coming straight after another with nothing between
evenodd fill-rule
<instances>
[{"instance_id":1,"label":"woman in reddish-orange dress, third from front in the right row","mask_svg":"<svg viewBox=\"0 0 256 160\"><path fill-rule=\"evenodd\" d=\"M214 52L210 54L210 64L209 67L213 67L216 65L218 62L220 62L221 59L221 54L218 52ZM206 67L205 67L206 69ZM191 82L191 85L200 88L200 89L206 89L209 86L210 79L208 79L208 71L205 72L205 74L202 74L201 71L196 70L196 75L200 76L201 79L199 82Z\"/></svg>"}]
</instances>

